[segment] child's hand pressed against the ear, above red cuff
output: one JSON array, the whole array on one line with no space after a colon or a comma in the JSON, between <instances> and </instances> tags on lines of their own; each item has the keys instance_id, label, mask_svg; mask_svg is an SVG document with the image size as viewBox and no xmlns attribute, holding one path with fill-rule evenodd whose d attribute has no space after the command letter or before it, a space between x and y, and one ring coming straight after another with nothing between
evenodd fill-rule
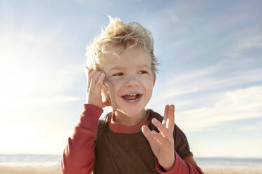
<instances>
[{"instance_id":1,"label":"child's hand pressed against the ear, above red cuff","mask_svg":"<svg viewBox=\"0 0 262 174\"><path fill-rule=\"evenodd\" d=\"M87 78L87 104L92 104L100 108L106 107L102 102L101 88L106 74L99 70L88 69Z\"/></svg>"}]
</instances>

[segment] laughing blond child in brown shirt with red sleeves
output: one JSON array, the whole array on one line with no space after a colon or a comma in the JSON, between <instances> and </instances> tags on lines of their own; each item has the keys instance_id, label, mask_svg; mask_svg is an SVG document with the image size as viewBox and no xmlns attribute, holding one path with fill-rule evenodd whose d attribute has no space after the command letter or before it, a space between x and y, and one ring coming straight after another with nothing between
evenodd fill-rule
<instances>
[{"instance_id":1,"label":"laughing blond child in brown shirt with red sleeves","mask_svg":"<svg viewBox=\"0 0 262 174\"><path fill-rule=\"evenodd\" d=\"M175 125L174 105L163 117L145 109L158 65L151 33L109 18L87 46L87 103L64 149L63 173L203 173ZM113 112L99 120L106 106Z\"/></svg>"}]
</instances>

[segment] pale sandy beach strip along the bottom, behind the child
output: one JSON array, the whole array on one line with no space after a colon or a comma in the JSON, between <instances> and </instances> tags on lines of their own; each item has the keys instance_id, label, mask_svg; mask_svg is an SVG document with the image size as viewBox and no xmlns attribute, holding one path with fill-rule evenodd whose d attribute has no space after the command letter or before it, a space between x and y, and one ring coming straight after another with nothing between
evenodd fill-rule
<instances>
[{"instance_id":1,"label":"pale sandy beach strip along the bottom, behind the child","mask_svg":"<svg viewBox=\"0 0 262 174\"><path fill-rule=\"evenodd\" d=\"M205 174L262 174L262 170L203 169ZM0 166L0 174L61 174L59 167Z\"/></svg>"}]
</instances>

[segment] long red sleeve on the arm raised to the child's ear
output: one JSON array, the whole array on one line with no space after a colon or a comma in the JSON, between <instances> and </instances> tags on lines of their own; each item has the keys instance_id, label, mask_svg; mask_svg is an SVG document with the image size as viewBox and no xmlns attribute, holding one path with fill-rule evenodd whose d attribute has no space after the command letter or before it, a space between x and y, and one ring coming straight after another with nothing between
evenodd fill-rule
<instances>
[{"instance_id":1,"label":"long red sleeve on the arm raised to the child's ear","mask_svg":"<svg viewBox=\"0 0 262 174\"><path fill-rule=\"evenodd\" d=\"M89 174L94 168L94 140L103 109L90 104L83 105L83 112L74 128L73 135L63 151L63 174Z\"/></svg>"}]
</instances>

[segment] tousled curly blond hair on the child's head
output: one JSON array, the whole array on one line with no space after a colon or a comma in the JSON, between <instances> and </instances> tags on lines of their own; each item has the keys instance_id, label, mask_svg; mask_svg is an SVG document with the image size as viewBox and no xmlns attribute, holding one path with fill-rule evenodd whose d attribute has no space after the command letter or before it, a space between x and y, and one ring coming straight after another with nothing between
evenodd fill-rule
<instances>
[{"instance_id":1,"label":"tousled curly blond hair on the child's head","mask_svg":"<svg viewBox=\"0 0 262 174\"><path fill-rule=\"evenodd\" d=\"M108 26L105 29L102 28L101 34L96 36L94 41L87 46L86 68L101 69L103 54L113 53L113 55L118 56L126 49L139 46L140 49L144 49L151 55L152 72L154 74L158 72L157 66L159 64L154 55L154 39L151 32L137 22L124 24L119 18L112 18L110 15L108 15L108 18L110 19ZM118 46L120 52L106 51L108 46Z\"/></svg>"}]
</instances>

